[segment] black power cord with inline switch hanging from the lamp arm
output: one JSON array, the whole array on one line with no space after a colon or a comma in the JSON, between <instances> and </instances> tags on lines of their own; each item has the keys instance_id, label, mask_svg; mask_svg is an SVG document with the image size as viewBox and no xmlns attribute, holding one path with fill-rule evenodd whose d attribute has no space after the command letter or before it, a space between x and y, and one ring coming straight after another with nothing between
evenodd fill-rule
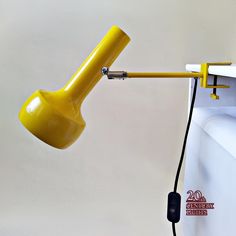
<instances>
[{"instance_id":1,"label":"black power cord with inline switch hanging from the lamp arm","mask_svg":"<svg viewBox=\"0 0 236 236\"><path fill-rule=\"evenodd\" d=\"M177 169L176 176L175 176L174 191L170 192L168 195L167 218L170 222L172 222L173 236L176 236L175 224L177 222L179 222L179 220L180 220L181 196L179 193L177 193L177 187L178 187L181 167L182 167L183 160L184 160L184 153L185 153L185 148L186 148L186 144L187 144L189 128L190 128L190 124L192 121L193 108L194 108L194 103L195 103L195 98L196 98L196 93L197 93L197 82L198 82L198 78L194 78L193 95L192 95L188 123L187 123L186 131L185 131L185 135L184 135L184 141L183 141L181 156L180 156L180 160L179 160L179 165L178 165L178 169Z\"/></svg>"}]
</instances>

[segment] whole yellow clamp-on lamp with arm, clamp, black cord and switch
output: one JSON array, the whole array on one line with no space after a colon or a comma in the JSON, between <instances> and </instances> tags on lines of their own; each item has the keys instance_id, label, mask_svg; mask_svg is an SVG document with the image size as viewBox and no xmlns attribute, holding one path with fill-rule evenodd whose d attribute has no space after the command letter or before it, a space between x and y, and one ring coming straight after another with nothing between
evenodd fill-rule
<instances>
[{"instance_id":1,"label":"whole yellow clamp-on lamp with arm, clamp, black cord and switch","mask_svg":"<svg viewBox=\"0 0 236 236\"><path fill-rule=\"evenodd\" d=\"M75 142L85 127L85 121L80 112L81 104L103 75L107 75L109 79L195 78L197 81L196 78L200 78L202 87L213 89L211 94L213 99L219 98L216 95L217 88L228 88L225 85L217 85L217 80L214 80L213 85L208 84L208 67L230 65L229 62L203 63L199 73L109 71L109 67L129 41L129 36L119 27L111 27L63 88L54 92L37 90L26 100L19 113L22 124L45 143L55 148L67 148ZM182 160L178 172L181 165ZM173 232L175 232L174 224L179 221L180 217L180 195L176 193L178 175L174 192L169 194L168 199L168 219L173 223Z\"/></svg>"}]
</instances>

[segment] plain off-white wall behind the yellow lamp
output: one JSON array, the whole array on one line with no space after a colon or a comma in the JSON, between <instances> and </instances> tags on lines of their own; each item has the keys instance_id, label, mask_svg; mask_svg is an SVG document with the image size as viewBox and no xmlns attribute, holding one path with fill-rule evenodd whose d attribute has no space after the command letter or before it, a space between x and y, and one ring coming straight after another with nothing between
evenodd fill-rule
<instances>
[{"instance_id":1,"label":"plain off-white wall behind the yellow lamp","mask_svg":"<svg viewBox=\"0 0 236 236\"><path fill-rule=\"evenodd\" d=\"M34 90L62 86L113 24L132 39L113 69L235 61L235 10L234 0L1 0L0 235L171 235L186 80L104 78L84 103L83 136L65 151L26 132L17 114Z\"/></svg>"}]
</instances>

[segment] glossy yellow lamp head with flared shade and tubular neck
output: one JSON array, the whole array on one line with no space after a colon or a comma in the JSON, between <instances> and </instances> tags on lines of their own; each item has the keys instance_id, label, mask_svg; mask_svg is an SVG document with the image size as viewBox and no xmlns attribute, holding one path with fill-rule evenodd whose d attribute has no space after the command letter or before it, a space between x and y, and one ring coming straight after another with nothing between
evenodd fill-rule
<instances>
[{"instance_id":1,"label":"glossy yellow lamp head with flared shade and tubular neck","mask_svg":"<svg viewBox=\"0 0 236 236\"><path fill-rule=\"evenodd\" d=\"M22 124L53 147L70 146L85 127L80 111L84 98L101 79L102 67L110 67L129 41L119 27L111 27L63 88L37 90L26 100L19 112Z\"/></svg>"}]
</instances>

